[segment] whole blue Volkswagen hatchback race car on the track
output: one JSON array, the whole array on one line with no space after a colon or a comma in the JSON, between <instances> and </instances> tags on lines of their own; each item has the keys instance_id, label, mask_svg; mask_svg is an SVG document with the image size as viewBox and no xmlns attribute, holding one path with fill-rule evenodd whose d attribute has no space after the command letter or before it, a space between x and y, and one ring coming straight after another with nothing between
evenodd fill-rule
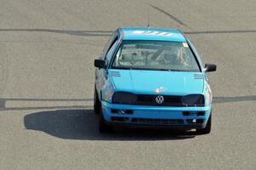
<instances>
[{"instance_id":1,"label":"whole blue Volkswagen hatchback race car on the track","mask_svg":"<svg viewBox=\"0 0 256 170\"><path fill-rule=\"evenodd\" d=\"M182 31L119 28L95 60L99 131L113 125L210 133L212 91L199 54Z\"/></svg>"}]
</instances>

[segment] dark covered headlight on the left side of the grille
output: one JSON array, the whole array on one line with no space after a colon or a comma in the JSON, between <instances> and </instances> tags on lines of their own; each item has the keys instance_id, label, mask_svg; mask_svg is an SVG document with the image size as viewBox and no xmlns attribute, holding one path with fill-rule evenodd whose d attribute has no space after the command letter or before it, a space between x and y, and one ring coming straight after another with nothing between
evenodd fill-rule
<instances>
[{"instance_id":1,"label":"dark covered headlight on the left side of the grille","mask_svg":"<svg viewBox=\"0 0 256 170\"><path fill-rule=\"evenodd\" d=\"M127 104L131 105L137 101L137 95L127 92L116 92L113 94L113 104Z\"/></svg>"}]
</instances>

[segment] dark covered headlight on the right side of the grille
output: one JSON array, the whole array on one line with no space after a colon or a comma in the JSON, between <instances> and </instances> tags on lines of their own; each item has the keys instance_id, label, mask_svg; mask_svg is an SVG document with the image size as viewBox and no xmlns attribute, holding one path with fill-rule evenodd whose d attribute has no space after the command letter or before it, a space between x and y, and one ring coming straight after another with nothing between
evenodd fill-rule
<instances>
[{"instance_id":1,"label":"dark covered headlight on the right side of the grille","mask_svg":"<svg viewBox=\"0 0 256 170\"><path fill-rule=\"evenodd\" d=\"M201 94L189 94L183 97L183 105L187 106L203 106L205 105L204 96Z\"/></svg>"}]
</instances>

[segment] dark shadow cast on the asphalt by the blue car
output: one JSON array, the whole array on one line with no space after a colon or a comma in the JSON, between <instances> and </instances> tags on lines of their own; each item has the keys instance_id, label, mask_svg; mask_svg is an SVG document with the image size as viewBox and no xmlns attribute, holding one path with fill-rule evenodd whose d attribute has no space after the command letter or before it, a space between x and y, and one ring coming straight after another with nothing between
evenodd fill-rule
<instances>
[{"instance_id":1,"label":"dark shadow cast on the asphalt by the blue car","mask_svg":"<svg viewBox=\"0 0 256 170\"><path fill-rule=\"evenodd\" d=\"M191 139L194 132L166 129L116 127L113 133L99 133L93 110L40 111L24 117L26 129L42 131L61 139L78 140L166 140Z\"/></svg>"}]
</instances>

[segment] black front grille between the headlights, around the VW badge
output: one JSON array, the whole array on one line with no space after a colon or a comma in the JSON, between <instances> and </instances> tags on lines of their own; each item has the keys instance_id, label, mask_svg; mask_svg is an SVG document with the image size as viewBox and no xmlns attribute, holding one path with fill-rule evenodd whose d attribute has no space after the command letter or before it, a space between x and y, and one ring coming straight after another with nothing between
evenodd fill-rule
<instances>
[{"instance_id":1,"label":"black front grille between the headlights, around the VW badge","mask_svg":"<svg viewBox=\"0 0 256 170\"><path fill-rule=\"evenodd\" d=\"M162 104L158 104L155 102L155 98L157 96L158 95L138 94L135 105L184 106L182 102L183 96L164 95L164 102Z\"/></svg>"}]
</instances>

